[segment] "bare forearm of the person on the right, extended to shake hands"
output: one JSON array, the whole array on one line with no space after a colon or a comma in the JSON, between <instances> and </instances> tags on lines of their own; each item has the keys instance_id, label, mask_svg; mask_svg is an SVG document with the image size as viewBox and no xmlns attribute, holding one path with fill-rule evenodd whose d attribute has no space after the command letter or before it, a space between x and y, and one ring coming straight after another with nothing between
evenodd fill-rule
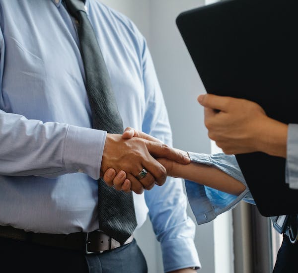
<instances>
[{"instance_id":1,"label":"bare forearm of the person on the right, extended to shake hands","mask_svg":"<svg viewBox=\"0 0 298 273\"><path fill-rule=\"evenodd\" d=\"M245 190L245 186L241 182L218 168L195 162L188 165L177 164L173 167L171 175L232 195L240 195Z\"/></svg>"}]
</instances>

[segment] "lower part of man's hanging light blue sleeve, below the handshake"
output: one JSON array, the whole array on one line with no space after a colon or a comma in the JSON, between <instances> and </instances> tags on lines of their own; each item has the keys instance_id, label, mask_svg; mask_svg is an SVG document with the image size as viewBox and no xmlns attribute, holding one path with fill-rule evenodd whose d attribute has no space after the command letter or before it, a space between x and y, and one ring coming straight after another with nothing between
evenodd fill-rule
<instances>
[{"instance_id":1,"label":"lower part of man's hanging light blue sleeve, below the handshake","mask_svg":"<svg viewBox=\"0 0 298 273\"><path fill-rule=\"evenodd\" d=\"M194 243L196 225L187 216L186 196L179 180L168 178L163 186L145 193L152 226L161 245L164 272L201 268Z\"/></svg>"}]
</instances>

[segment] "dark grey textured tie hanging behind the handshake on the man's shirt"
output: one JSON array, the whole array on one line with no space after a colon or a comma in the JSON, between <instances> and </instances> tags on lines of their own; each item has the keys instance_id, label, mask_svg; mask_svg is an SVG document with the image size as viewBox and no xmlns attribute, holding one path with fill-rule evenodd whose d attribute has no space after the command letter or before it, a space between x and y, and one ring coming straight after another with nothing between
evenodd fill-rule
<instances>
[{"instance_id":1,"label":"dark grey textured tie hanging behind the handshake on the man's shirt","mask_svg":"<svg viewBox=\"0 0 298 273\"><path fill-rule=\"evenodd\" d=\"M93 128L111 134L122 134L123 123L118 112L109 73L88 19L83 0L65 0L69 13L78 21L86 90L91 106ZM132 193L116 191L103 179L98 180L99 228L124 243L137 227Z\"/></svg>"}]
</instances>

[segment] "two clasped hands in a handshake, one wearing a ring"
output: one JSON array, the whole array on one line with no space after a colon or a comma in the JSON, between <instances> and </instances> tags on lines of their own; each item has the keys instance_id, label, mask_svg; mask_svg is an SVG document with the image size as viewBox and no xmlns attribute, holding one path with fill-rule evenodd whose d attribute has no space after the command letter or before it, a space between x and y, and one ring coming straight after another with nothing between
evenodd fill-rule
<instances>
[{"instance_id":1,"label":"two clasped hands in a handshake, one wearing a ring","mask_svg":"<svg viewBox=\"0 0 298 273\"><path fill-rule=\"evenodd\" d=\"M108 134L100 176L118 191L142 194L163 185L179 165L190 163L187 152L170 148L153 136L127 128L123 135Z\"/></svg>"}]
</instances>

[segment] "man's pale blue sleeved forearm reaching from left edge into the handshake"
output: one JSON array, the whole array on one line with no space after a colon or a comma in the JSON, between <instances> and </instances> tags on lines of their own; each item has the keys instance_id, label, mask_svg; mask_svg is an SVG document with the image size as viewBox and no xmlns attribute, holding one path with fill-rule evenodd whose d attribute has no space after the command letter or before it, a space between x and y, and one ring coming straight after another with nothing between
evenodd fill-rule
<instances>
[{"instance_id":1,"label":"man's pale blue sleeved forearm reaching from left edge into the handshake","mask_svg":"<svg viewBox=\"0 0 298 273\"><path fill-rule=\"evenodd\" d=\"M84 172L99 177L105 133L28 120L0 110L0 174L43 176Z\"/></svg>"}]
</instances>

